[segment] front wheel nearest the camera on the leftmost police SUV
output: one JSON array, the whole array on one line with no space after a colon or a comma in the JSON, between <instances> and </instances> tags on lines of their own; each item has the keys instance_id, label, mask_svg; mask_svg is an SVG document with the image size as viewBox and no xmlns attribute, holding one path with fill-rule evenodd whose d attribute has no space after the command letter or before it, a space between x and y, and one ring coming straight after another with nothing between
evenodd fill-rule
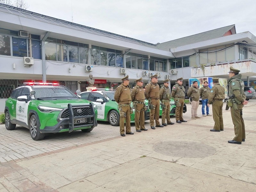
<instances>
[{"instance_id":1,"label":"front wheel nearest the camera on the leftmost police SUV","mask_svg":"<svg viewBox=\"0 0 256 192\"><path fill-rule=\"evenodd\" d=\"M33 140L44 139L45 134L40 133L40 121L36 115L30 117L28 129Z\"/></svg>"}]
</instances>

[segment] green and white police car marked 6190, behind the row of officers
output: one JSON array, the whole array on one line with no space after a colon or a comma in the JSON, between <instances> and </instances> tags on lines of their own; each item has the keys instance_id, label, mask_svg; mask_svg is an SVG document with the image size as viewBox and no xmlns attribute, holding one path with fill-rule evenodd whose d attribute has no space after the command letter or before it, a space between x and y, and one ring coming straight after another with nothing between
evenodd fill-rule
<instances>
[{"instance_id":1,"label":"green and white police car marked 6190, behind the row of officers","mask_svg":"<svg viewBox=\"0 0 256 192\"><path fill-rule=\"evenodd\" d=\"M88 87L89 88L89 87ZM87 92L79 94L81 99L92 101L97 106L98 121L108 121L112 126L119 126L119 110L118 104L114 100L115 91L113 89L104 89L91 87ZM145 112L145 120L149 119L148 103L145 101L147 111ZM131 103L131 107L132 103ZM131 114L131 122L134 122L135 110Z\"/></svg>"}]
</instances>

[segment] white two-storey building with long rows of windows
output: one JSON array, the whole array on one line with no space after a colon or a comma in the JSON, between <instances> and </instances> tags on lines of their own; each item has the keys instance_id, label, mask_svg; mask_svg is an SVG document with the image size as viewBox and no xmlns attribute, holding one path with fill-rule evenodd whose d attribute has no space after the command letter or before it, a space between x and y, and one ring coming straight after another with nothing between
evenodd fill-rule
<instances>
[{"instance_id":1,"label":"white two-storey building with long rows of windows","mask_svg":"<svg viewBox=\"0 0 256 192\"><path fill-rule=\"evenodd\" d=\"M55 82L73 92L94 86L116 88L129 75L131 86L158 74L159 84L183 77L227 78L232 65L245 81L255 80L256 37L236 34L235 25L151 44L130 37L0 4L0 112L23 82Z\"/></svg>"}]
</instances>

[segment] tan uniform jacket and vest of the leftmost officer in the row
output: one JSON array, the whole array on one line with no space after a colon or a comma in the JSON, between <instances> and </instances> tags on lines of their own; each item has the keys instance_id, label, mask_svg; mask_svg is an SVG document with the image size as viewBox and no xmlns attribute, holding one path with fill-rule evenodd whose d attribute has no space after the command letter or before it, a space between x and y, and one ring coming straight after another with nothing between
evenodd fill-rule
<instances>
[{"instance_id":1,"label":"tan uniform jacket and vest of the leftmost officer in the row","mask_svg":"<svg viewBox=\"0 0 256 192\"><path fill-rule=\"evenodd\" d=\"M116 88L115 101L118 104L129 104L132 101L131 89L129 85L125 86L123 83Z\"/></svg>"}]
</instances>

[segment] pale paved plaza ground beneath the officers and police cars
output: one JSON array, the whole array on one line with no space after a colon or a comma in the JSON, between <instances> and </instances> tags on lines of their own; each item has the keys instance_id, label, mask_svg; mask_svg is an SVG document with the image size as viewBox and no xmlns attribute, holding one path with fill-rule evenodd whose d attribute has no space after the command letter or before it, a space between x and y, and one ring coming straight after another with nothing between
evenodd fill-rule
<instances>
[{"instance_id":1,"label":"pale paved plaza ground beneath the officers and police cars","mask_svg":"<svg viewBox=\"0 0 256 192\"><path fill-rule=\"evenodd\" d=\"M29 144L40 150L32 156L14 155L17 158L13 160L2 157L0 192L255 191L255 106L256 100L250 100L244 107L246 139L242 145L228 143L234 137L230 110L223 111L224 131L210 132L212 116L202 117L199 105L198 116L202 118L192 120L189 104L184 114L187 123L140 133L132 124L134 135L126 137L119 135L117 127L100 123L91 133L56 134L33 141L27 138L27 130L15 130L11 137L0 125L4 146L0 149L22 154L15 146L21 149ZM108 129L101 128L104 126ZM148 121L146 126L150 127ZM17 134L27 139L22 141L21 136L15 145ZM40 147L54 149L44 152ZM3 154L7 153L0 153L0 158Z\"/></svg>"}]
</instances>

